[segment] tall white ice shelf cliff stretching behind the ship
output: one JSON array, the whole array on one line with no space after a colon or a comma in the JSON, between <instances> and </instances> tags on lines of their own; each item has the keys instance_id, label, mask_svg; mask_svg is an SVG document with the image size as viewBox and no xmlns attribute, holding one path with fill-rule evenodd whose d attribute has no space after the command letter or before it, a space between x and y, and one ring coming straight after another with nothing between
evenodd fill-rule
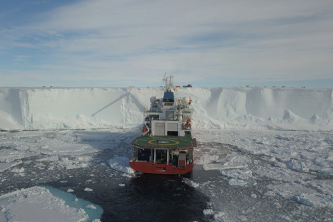
<instances>
[{"instance_id":1,"label":"tall white ice shelf cliff stretching behind the ship","mask_svg":"<svg viewBox=\"0 0 333 222\"><path fill-rule=\"evenodd\" d=\"M135 127L163 88L0 87L0 129ZM178 88L196 128L289 126L333 130L333 89Z\"/></svg>"}]
</instances>

